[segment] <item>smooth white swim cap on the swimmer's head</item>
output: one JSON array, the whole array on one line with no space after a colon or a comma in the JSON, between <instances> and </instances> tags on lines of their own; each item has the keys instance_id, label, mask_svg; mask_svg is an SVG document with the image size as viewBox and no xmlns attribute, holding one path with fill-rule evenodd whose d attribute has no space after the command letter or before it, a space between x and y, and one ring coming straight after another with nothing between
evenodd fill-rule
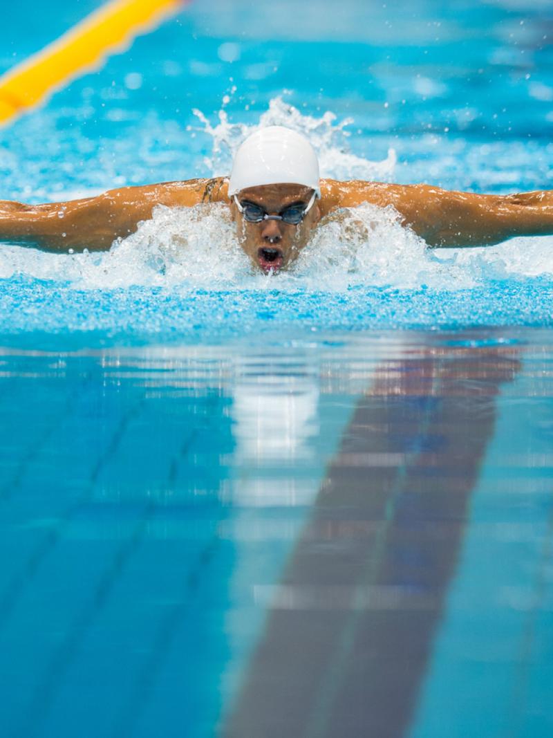
<instances>
[{"instance_id":1,"label":"smooth white swim cap on the swimmer's head","mask_svg":"<svg viewBox=\"0 0 553 738\"><path fill-rule=\"evenodd\" d=\"M262 184L305 184L321 196L319 162L315 149L302 134L269 125L251 134L234 156L229 196Z\"/></svg>"}]
</instances>

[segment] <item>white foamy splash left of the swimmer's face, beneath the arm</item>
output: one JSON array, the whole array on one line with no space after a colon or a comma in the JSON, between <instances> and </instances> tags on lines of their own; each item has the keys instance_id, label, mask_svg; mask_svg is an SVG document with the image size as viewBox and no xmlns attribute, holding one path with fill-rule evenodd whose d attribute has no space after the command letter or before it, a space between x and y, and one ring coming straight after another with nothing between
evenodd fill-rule
<instances>
[{"instance_id":1,"label":"white foamy splash left of the swimmer's face, beneath the arm","mask_svg":"<svg viewBox=\"0 0 553 738\"><path fill-rule=\"evenodd\" d=\"M0 252L0 277L25 274L76 289L178 284L217 289L236 286L250 272L224 204L159 205L136 233L116 241L108 252L52 256L18 247Z\"/></svg>"}]
</instances>

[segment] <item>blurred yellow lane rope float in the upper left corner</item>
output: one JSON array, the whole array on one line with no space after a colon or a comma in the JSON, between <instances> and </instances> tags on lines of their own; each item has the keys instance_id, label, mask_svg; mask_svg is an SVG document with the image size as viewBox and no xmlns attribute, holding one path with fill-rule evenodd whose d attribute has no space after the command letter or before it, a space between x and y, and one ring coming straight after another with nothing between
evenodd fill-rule
<instances>
[{"instance_id":1,"label":"blurred yellow lane rope float in the upper left corner","mask_svg":"<svg viewBox=\"0 0 553 738\"><path fill-rule=\"evenodd\" d=\"M111 0L0 77L0 125L127 48L189 0Z\"/></svg>"}]
</instances>

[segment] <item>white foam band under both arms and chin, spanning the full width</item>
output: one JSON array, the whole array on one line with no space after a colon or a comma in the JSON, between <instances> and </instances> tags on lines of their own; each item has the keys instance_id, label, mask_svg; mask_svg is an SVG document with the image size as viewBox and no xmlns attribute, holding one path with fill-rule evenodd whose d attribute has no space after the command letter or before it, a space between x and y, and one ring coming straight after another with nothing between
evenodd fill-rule
<instances>
[{"instance_id":1,"label":"white foam band under both arms and chin, spanning the full width","mask_svg":"<svg viewBox=\"0 0 553 738\"><path fill-rule=\"evenodd\" d=\"M492 280L553 273L552 238L518 238L487 249L428 249L392 206L362 204L321 221L288 272L265 275L240 248L225 204L153 210L109 252L51 255L17 246L0 251L0 278L27 275L75 289L130 286L183 289L351 287L455 290Z\"/></svg>"}]
</instances>

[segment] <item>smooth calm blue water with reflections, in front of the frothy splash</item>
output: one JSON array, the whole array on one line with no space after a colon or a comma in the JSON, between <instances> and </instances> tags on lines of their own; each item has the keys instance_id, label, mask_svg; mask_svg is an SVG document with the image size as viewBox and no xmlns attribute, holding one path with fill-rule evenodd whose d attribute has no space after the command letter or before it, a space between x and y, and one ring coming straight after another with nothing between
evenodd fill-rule
<instances>
[{"instance_id":1,"label":"smooth calm blue water with reflections, in front of the frothy splash","mask_svg":"<svg viewBox=\"0 0 553 738\"><path fill-rule=\"evenodd\" d=\"M552 362L2 349L3 733L549 736Z\"/></svg>"}]
</instances>

